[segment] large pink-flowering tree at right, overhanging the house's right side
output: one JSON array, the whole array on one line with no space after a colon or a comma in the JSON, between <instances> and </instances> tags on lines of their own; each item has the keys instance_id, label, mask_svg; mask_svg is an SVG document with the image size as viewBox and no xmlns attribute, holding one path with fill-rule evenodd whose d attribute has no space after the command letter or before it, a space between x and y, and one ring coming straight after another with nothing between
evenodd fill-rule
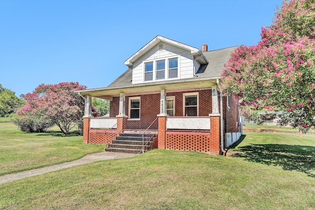
<instances>
[{"instance_id":1,"label":"large pink-flowering tree at right, overhanging the house's right side","mask_svg":"<svg viewBox=\"0 0 315 210\"><path fill-rule=\"evenodd\" d=\"M240 46L222 71L243 106L285 111L281 124L315 126L315 2L283 1L255 46Z\"/></svg>"}]
</instances>

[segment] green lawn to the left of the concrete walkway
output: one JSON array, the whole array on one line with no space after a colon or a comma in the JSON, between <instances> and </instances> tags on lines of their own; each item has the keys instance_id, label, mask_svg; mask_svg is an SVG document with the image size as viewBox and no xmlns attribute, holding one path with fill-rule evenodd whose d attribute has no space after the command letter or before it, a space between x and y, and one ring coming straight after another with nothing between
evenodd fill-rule
<instances>
[{"instance_id":1,"label":"green lawn to the left of the concrete walkway","mask_svg":"<svg viewBox=\"0 0 315 210\"><path fill-rule=\"evenodd\" d=\"M76 160L104 150L82 144L82 136L64 136L53 127L46 133L25 133L10 122L0 123L0 175Z\"/></svg>"}]
</instances>

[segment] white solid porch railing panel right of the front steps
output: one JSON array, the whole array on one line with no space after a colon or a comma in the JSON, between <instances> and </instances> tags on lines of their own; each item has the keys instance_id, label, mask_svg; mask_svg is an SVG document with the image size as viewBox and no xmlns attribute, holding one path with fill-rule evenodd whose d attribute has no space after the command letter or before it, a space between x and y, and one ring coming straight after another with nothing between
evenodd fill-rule
<instances>
[{"instance_id":1,"label":"white solid porch railing panel right of the front steps","mask_svg":"<svg viewBox=\"0 0 315 210\"><path fill-rule=\"evenodd\" d=\"M210 130L209 117L167 117L167 129Z\"/></svg>"}]
</instances>

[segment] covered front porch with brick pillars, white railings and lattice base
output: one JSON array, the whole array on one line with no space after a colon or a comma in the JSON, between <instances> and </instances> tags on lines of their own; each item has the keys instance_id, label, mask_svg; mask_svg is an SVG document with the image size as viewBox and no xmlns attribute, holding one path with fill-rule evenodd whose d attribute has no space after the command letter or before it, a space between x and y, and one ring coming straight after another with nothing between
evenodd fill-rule
<instances>
[{"instance_id":1,"label":"covered front porch with brick pillars, white railings and lattice base","mask_svg":"<svg viewBox=\"0 0 315 210\"><path fill-rule=\"evenodd\" d=\"M83 134L86 144L107 145L121 133L145 135L151 132L157 134L158 149L221 153L221 115L215 81L191 81L185 86L175 81L82 90L79 94L86 98ZM109 118L91 117L92 97L111 101ZM174 110L167 104L171 97L174 98Z\"/></svg>"}]
</instances>

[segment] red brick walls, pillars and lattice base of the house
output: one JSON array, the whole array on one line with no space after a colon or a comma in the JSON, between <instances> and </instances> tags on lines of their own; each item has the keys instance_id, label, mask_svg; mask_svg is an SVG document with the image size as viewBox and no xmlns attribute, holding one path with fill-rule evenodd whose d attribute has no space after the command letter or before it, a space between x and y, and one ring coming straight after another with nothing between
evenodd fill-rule
<instances>
[{"instance_id":1,"label":"red brick walls, pillars and lattice base of the house","mask_svg":"<svg viewBox=\"0 0 315 210\"><path fill-rule=\"evenodd\" d=\"M167 96L175 96L175 116L183 116L183 97L184 93L198 92L198 112L200 117L212 114L212 90L193 90L180 92L167 92ZM160 94L142 94L125 97L125 110L128 116L129 98L140 97L140 119L132 120L127 118L117 119L117 131L146 129L157 118L160 111ZM113 97L110 102L110 117L115 118L119 114L119 97ZM220 109L220 92L218 92L219 111ZM238 132L238 105L234 99L229 100L229 109L226 106L226 97L222 97L223 108L223 128L225 132ZM158 149L167 150L193 150L201 152L209 152L212 154L221 153L221 120L220 114L210 116L210 131L175 131L166 129L167 117L158 117L158 120L150 127L150 129L158 130ZM84 121L89 122L89 119ZM84 143L108 144L112 136L108 134L100 134L90 132L84 135ZM222 136L225 141L224 134ZM89 139L89 141L86 140ZM224 143L225 144L225 143Z\"/></svg>"}]
</instances>

